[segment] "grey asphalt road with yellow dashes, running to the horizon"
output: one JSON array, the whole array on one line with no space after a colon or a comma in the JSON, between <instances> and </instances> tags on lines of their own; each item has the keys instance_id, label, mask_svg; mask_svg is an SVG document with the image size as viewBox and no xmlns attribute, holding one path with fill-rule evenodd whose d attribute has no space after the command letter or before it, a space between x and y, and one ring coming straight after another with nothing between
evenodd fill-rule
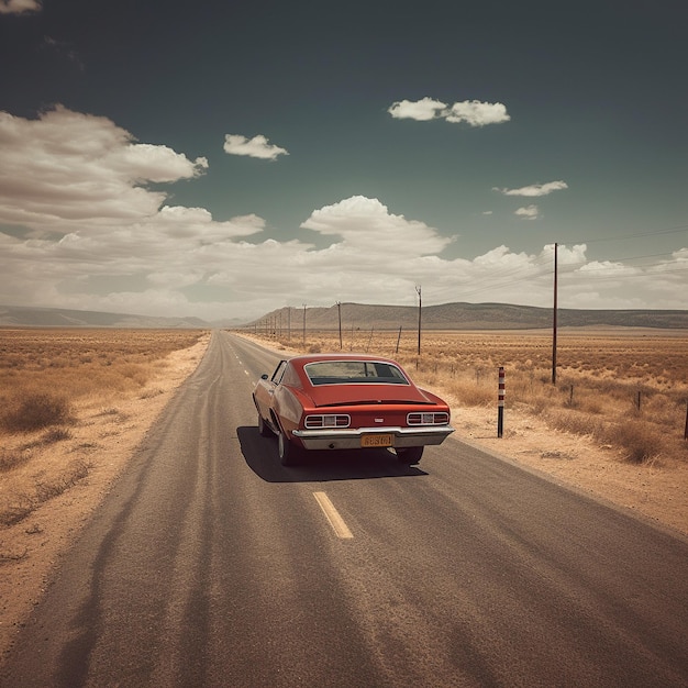
<instances>
[{"instance_id":1,"label":"grey asphalt road with yellow dashes, running to the horizon","mask_svg":"<svg viewBox=\"0 0 688 688\"><path fill-rule=\"evenodd\" d=\"M275 362L213 334L2 686L688 685L684 539L456 435L284 468Z\"/></svg>"}]
</instances>

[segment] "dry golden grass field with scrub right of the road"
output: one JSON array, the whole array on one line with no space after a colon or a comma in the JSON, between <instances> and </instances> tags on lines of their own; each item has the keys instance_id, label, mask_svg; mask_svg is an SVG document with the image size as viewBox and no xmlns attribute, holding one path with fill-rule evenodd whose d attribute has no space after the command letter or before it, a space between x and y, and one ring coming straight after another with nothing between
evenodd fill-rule
<instances>
[{"instance_id":1,"label":"dry golden grass field with scrub right of the road","mask_svg":"<svg viewBox=\"0 0 688 688\"><path fill-rule=\"evenodd\" d=\"M303 352L340 351L339 332L265 336ZM637 464L688 459L688 333L614 330L559 332L557 382L552 384L552 339L542 332L349 331L344 351L399 360L414 379L457 406L497 401L504 367L507 408L543 418L551 428L593 437Z\"/></svg>"}]
</instances>

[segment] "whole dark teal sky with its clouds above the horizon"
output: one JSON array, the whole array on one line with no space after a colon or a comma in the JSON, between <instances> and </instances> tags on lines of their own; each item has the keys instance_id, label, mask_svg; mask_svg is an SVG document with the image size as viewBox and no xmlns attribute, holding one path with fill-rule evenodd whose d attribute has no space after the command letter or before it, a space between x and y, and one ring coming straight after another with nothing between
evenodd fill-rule
<instances>
[{"instance_id":1,"label":"whole dark teal sky with its clouds above the horizon","mask_svg":"<svg viewBox=\"0 0 688 688\"><path fill-rule=\"evenodd\" d=\"M688 309L685 0L0 0L0 303Z\"/></svg>"}]
</instances>

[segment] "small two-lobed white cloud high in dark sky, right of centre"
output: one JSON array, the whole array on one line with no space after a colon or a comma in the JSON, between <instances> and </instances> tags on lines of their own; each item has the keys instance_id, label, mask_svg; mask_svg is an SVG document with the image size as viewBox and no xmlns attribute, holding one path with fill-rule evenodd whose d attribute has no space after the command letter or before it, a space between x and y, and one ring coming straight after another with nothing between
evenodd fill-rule
<instances>
[{"instance_id":1,"label":"small two-lobed white cloud high in dark sky, right of centre","mask_svg":"<svg viewBox=\"0 0 688 688\"><path fill-rule=\"evenodd\" d=\"M500 102L482 102L479 100L464 100L447 106L440 100L422 98L421 100L400 100L392 103L387 112L395 119L410 119L419 122L443 119L452 123L465 122L469 126L486 126L501 124L511 116L506 106Z\"/></svg>"}]
</instances>

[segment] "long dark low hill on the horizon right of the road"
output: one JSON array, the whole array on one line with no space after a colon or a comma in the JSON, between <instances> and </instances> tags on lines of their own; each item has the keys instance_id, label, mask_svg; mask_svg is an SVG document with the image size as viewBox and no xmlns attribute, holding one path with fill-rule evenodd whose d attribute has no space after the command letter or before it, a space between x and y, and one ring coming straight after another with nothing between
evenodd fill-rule
<instances>
[{"instance_id":1,"label":"long dark low hill on the horizon right of the road","mask_svg":"<svg viewBox=\"0 0 688 688\"><path fill-rule=\"evenodd\" d=\"M342 303L342 328L376 330L418 329L418 307L368 306ZM532 330L552 328L551 308L513 306L509 303L444 303L424 306L421 311L425 330ZM247 328L298 330L302 326L303 309L281 308L248 323ZM339 329L339 308L307 308L310 330ZM290 324L289 324L290 323ZM622 326L688 329L688 310L578 310L558 309L561 328Z\"/></svg>"}]
</instances>

